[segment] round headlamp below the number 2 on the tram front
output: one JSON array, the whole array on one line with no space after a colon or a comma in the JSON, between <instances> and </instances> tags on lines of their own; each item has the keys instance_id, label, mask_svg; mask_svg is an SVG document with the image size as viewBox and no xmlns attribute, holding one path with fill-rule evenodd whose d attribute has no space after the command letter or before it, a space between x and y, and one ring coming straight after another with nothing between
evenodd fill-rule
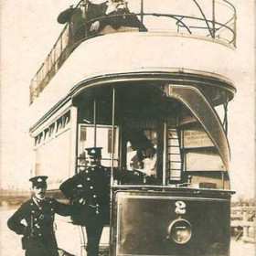
<instances>
[{"instance_id":1,"label":"round headlamp below the number 2 on the tram front","mask_svg":"<svg viewBox=\"0 0 256 256\"><path fill-rule=\"evenodd\" d=\"M168 227L169 240L178 244L187 243L191 238L191 225L186 219L176 219Z\"/></svg>"}]
</instances>

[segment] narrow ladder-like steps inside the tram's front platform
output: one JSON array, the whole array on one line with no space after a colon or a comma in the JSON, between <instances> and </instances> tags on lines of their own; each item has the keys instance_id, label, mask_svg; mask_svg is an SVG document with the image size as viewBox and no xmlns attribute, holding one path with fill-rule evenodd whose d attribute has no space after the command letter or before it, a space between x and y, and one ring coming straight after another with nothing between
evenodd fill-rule
<instances>
[{"instance_id":1,"label":"narrow ladder-like steps inside the tram's front platform","mask_svg":"<svg viewBox=\"0 0 256 256\"><path fill-rule=\"evenodd\" d=\"M169 182L176 183L181 180L182 160L180 154L180 142L176 128L168 129L168 169L170 170Z\"/></svg>"}]
</instances>

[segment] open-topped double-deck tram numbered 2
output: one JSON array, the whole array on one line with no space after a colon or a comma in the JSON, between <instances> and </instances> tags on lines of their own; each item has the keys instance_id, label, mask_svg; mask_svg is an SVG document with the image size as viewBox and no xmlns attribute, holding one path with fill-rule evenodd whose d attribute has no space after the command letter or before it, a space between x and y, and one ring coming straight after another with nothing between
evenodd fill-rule
<instances>
[{"instance_id":1,"label":"open-topped double-deck tram numbered 2","mask_svg":"<svg viewBox=\"0 0 256 256\"><path fill-rule=\"evenodd\" d=\"M82 2L31 81L33 174L58 194L101 146L102 165L138 174L111 178L109 255L229 255L235 7L130 0L91 34Z\"/></svg>"}]
</instances>

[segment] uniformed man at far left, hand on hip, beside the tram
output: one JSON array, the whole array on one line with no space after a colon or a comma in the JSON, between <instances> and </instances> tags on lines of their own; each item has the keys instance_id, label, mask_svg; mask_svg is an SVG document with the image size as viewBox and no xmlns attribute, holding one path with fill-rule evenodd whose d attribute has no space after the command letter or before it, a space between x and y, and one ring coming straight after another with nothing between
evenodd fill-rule
<instances>
[{"instance_id":1,"label":"uniformed man at far left, hand on hip, beside the tram","mask_svg":"<svg viewBox=\"0 0 256 256\"><path fill-rule=\"evenodd\" d=\"M58 213L69 216L73 209L46 197L48 176L34 176L32 182L33 197L18 208L8 219L8 228L23 235L22 246L26 256L59 256L54 233L54 216ZM27 225L21 223L25 219Z\"/></svg>"}]
</instances>

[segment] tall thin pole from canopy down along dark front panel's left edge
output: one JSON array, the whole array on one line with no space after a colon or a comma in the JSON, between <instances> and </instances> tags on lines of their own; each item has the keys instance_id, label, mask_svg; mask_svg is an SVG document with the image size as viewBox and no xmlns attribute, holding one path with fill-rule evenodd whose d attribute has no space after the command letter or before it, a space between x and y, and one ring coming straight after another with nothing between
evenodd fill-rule
<instances>
[{"instance_id":1,"label":"tall thin pole from canopy down along dark front panel's left edge","mask_svg":"<svg viewBox=\"0 0 256 256\"><path fill-rule=\"evenodd\" d=\"M112 255L112 186L113 186L113 157L114 157L114 123L115 123L115 88L112 88L112 167L111 167L111 203L110 203L110 254Z\"/></svg>"}]
</instances>

